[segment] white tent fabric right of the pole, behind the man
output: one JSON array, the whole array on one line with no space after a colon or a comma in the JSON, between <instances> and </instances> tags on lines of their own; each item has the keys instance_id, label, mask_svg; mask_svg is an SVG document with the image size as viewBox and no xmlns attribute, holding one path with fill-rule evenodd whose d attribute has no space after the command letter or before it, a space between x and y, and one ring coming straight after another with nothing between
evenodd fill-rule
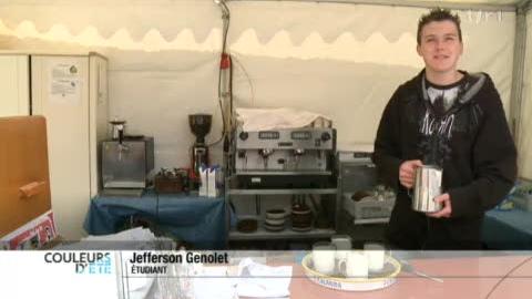
<instances>
[{"instance_id":1,"label":"white tent fabric right of the pole, behind the man","mask_svg":"<svg viewBox=\"0 0 532 299\"><path fill-rule=\"evenodd\" d=\"M254 94L237 65L237 105L273 107L289 103L330 115L338 127L340 148L372 143L389 96L423 65L415 49L417 20L426 9L238 4L234 6L232 29L243 34L232 35L231 49L252 79ZM460 14L466 44L461 68L490 73L509 111L514 14L484 14L480 19L469 19L468 12ZM282 22L285 29L264 41L255 38L260 35L255 31L270 37L268 20L275 20L273 28L282 27ZM305 35L309 29L325 33Z\"/></svg>"}]
</instances>

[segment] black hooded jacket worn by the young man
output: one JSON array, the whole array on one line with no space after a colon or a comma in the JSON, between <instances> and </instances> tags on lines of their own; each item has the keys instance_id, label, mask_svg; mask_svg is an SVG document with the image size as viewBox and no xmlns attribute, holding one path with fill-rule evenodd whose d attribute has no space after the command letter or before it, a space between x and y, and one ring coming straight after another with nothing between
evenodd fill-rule
<instances>
[{"instance_id":1,"label":"black hooded jacket worn by the young man","mask_svg":"<svg viewBox=\"0 0 532 299\"><path fill-rule=\"evenodd\" d=\"M477 249L482 219L508 194L516 176L516 150L499 93L485 73L464 74L453 106L438 115L424 89L424 71L400 85L388 102L375 141L379 177L398 196L388 241L403 249ZM430 218L410 208L399 183L409 159L443 168L451 218Z\"/></svg>"}]
</instances>

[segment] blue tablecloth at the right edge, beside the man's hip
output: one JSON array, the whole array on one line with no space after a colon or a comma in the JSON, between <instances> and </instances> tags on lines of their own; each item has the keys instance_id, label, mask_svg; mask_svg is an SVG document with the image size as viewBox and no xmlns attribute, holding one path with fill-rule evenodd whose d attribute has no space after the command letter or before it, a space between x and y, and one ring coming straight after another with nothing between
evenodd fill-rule
<instances>
[{"instance_id":1,"label":"blue tablecloth at the right edge, beside the man's hip","mask_svg":"<svg viewBox=\"0 0 532 299\"><path fill-rule=\"evenodd\" d=\"M532 213L521 209L485 214L482 240L490 249L532 249Z\"/></svg>"}]
</instances>

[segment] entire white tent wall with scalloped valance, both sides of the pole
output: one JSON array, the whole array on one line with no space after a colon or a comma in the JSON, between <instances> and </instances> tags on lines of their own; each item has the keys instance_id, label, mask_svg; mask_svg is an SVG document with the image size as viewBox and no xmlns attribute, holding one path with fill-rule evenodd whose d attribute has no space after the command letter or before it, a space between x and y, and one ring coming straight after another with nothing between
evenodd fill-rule
<instances>
[{"instance_id":1,"label":"entire white tent wall with scalloped valance, both sides of the pole","mask_svg":"<svg viewBox=\"0 0 532 299\"><path fill-rule=\"evenodd\" d=\"M110 59L110 115L154 135L156 167L183 166L186 115L215 114L221 11L208 0L8 1L4 49L85 48ZM35 4L37 3L37 4ZM40 4L39 4L40 3ZM417 21L427 9L317 2L232 1L228 49L236 106L291 106L330 116L339 147L370 144L386 102L417 74ZM507 113L515 13L459 11L460 68L485 71Z\"/></svg>"}]
</instances>

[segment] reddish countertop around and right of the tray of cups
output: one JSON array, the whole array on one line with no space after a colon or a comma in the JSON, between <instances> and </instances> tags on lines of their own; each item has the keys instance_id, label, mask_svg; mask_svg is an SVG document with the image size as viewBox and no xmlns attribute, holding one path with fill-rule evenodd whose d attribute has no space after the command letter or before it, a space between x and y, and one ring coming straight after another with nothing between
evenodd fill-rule
<instances>
[{"instance_id":1,"label":"reddish countertop around and right of the tray of cups","mask_svg":"<svg viewBox=\"0 0 532 299\"><path fill-rule=\"evenodd\" d=\"M512 271L520 264L522 265ZM417 270L443 279L443 282L401 272L396 283L386 289L346 292L314 283L305 277L303 267L296 265L293 270L290 298L532 298L532 256L418 259L412 260L411 265ZM510 271L512 272L509 274Z\"/></svg>"}]
</instances>

